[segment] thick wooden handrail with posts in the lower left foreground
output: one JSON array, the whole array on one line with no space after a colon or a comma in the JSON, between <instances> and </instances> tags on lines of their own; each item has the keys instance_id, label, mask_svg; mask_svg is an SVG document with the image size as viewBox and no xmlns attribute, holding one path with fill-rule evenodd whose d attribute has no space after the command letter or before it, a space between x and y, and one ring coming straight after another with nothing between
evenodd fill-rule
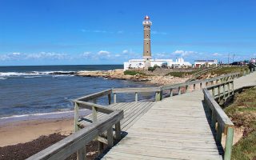
<instances>
[{"instance_id":1,"label":"thick wooden handrail with posts in the lower left foreground","mask_svg":"<svg viewBox=\"0 0 256 160\"><path fill-rule=\"evenodd\" d=\"M66 159L71 154L74 154L78 150L78 159L85 159L86 152L85 146L86 143L97 138L99 134L102 134L108 130L108 142L109 147L113 146L113 131L112 126L123 118L122 110L114 110L112 113L107 115L105 118L94 122L92 125L78 130L74 134L71 134L67 138L62 139L61 141L55 143L53 146L49 146L45 150L34 154L27 160L61 160ZM109 131L110 130L110 131ZM112 133L112 136L111 136Z\"/></svg>"}]
</instances>

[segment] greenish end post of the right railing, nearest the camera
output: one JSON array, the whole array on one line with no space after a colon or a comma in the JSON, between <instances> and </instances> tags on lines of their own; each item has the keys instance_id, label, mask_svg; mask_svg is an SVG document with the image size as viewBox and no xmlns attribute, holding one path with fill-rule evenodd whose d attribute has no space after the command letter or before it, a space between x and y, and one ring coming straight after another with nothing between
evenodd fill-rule
<instances>
[{"instance_id":1,"label":"greenish end post of the right railing, nearest the camera","mask_svg":"<svg viewBox=\"0 0 256 160\"><path fill-rule=\"evenodd\" d=\"M225 146L224 160L231 159L233 137L234 137L234 128L228 127L227 134L226 134L226 146Z\"/></svg>"}]
</instances>

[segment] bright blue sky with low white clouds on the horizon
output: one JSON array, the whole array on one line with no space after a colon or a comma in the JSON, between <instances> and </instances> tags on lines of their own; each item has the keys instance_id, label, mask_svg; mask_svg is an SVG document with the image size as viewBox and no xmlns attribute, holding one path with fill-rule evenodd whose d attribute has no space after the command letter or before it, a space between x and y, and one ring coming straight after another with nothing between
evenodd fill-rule
<instances>
[{"instance_id":1,"label":"bright blue sky with low white clouds on the horizon","mask_svg":"<svg viewBox=\"0 0 256 160\"><path fill-rule=\"evenodd\" d=\"M256 57L255 0L0 0L0 66L122 64L142 58Z\"/></svg>"}]
</instances>

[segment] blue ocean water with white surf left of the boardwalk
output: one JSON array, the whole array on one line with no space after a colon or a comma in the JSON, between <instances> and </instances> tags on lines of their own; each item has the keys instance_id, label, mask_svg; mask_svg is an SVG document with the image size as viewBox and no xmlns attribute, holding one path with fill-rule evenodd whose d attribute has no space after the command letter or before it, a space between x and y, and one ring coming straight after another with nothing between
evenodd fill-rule
<instances>
[{"instance_id":1,"label":"blue ocean water with white surf left of the boardwalk","mask_svg":"<svg viewBox=\"0 0 256 160\"><path fill-rule=\"evenodd\" d=\"M0 66L0 118L72 110L70 102L86 94L118 87L149 86L142 82L78 77L80 70L114 70L122 65ZM52 74L63 72L66 74ZM148 96L148 95L145 95ZM128 100L134 95L128 96ZM104 104L107 98L99 99ZM118 95L120 101L125 99Z\"/></svg>"}]
</instances>

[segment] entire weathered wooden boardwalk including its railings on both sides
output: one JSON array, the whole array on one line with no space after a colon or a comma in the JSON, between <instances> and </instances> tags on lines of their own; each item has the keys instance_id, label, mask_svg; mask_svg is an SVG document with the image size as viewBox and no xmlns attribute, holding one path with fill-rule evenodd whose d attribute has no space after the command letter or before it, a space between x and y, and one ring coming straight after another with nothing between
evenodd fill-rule
<instances>
[{"instance_id":1,"label":"entire weathered wooden boardwalk including its railings on both sides","mask_svg":"<svg viewBox=\"0 0 256 160\"><path fill-rule=\"evenodd\" d=\"M256 86L256 72L247 72L241 78L238 75L169 86L109 89L76 98L76 132L28 159L62 160L74 152L78 159L85 159L86 144L96 139L102 159L230 160L234 124L215 99L225 102L234 91ZM234 78L238 79L233 81ZM207 88L196 90L196 85ZM177 89L178 95L172 96ZM138 94L146 92L153 92L156 102L138 102ZM164 92L170 97L162 99ZM115 103L120 93L134 93L135 102ZM114 104L110 104L112 95ZM110 105L97 104L98 98L107 98ZM92 114L82 118L81 108L91 110ZM222 134L226 135L225 151L221 146ZM104 153L103 143L110 149Z\"/></svg>"}]
</instances>

